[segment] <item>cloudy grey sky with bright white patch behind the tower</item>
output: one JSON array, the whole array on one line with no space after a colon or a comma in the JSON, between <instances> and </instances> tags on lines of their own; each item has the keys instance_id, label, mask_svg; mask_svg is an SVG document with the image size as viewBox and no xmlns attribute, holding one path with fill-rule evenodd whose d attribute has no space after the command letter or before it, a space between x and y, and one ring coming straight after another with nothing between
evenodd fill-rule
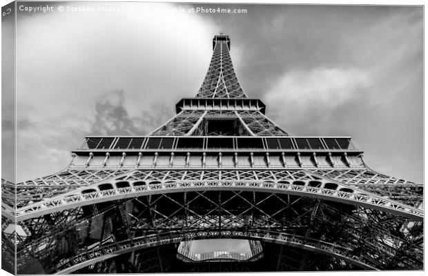
<instances>
[{"instance_id":1,"label":"cloudy grey sky with bright white patch behind the tower","mask_svg":"<svg viewBox=\"0 0 428 276\"><path fill-rule=\"evenodd\" d=\"M173 116L219 32L246 94L284 130L350 135L371 168L423 181L421 7L48 5L18 14L17 181L65 168L85 135L145 135ZM202 7L246 13L188 12Z\"/></svg>"}]
</instances>

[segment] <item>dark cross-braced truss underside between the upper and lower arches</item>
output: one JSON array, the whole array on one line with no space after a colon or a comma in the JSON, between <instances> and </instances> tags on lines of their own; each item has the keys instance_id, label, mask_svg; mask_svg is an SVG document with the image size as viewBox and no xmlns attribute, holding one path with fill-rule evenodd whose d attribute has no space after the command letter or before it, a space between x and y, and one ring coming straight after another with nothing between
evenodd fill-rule
<instances>
[{"instance_id":1,"label":"dark cross-braced truss underside between the upper and lower arches","mask_svg":"<svg viewBox=\"0 0 428 276\"><path fill-rule=\"evenodd\" d=\"M273 239L294 237L300 244L304 237L305 246L316 241L315 247L329 254L338 254L337 248L341 248L346 251L340 251L344 257L376 269L418 268L423 263L421 222L353 204L255 190L158 193L79 206L19 225L28 233L18 245L22 273L26 271L24 260L30 257L49 273L57 270L52 264L65 265L74 259L70 261L74 265L88 261L84 260L88 254L108 255L117 248L110 243L132 244L137 237L168 236L174 230L211 233L203 237L247 233L241 236L246 238L252 233L254 239L268 239L266 233L276 233L278 237ZM192 235L186 238L197 237Z\"/></svg>"}]
</instances>

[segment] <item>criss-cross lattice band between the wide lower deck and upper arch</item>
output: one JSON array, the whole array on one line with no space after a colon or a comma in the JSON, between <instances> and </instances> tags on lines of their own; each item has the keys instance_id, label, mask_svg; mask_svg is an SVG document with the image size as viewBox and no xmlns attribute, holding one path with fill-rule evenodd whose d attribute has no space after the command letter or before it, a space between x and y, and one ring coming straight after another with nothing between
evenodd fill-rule
<instances>
[{"instance_id":1,"label":"criss-cross lattice band between the wide lower deck and upper arch","mask_svg":"<svg viewBox=\"0 0 428 276\"><path fill-rule=\"evenodd\" d=\"M68 169L53 175L41 177L19 184L11 184L2 179L2 208L12 206L21 208L46 198L55 197L78 187L89 186L108 179L124 177L127 180L228 180L232 176L239 180L295 181L299 179L331 179L349 186L355 186L376 195L382 195L409 206L418 206L423 199L423 187L396 177L382 175L373 170L219 170L217 173L206 170L73 170ZM176 177L176 178L174 178ZM117 178L118 179L118 178Z\"/></svg>"}]
</instances>

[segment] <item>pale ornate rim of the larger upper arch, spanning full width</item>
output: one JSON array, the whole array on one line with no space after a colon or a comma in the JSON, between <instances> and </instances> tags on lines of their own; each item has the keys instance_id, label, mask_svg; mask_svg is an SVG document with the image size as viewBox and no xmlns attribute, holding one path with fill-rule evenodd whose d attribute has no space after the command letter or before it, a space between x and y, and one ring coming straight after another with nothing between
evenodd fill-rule
<instances>
[{"instance_id":1,"label":"pale ornate rim of the larger upper arch, spanning full width","mask_svg":"<svg viewBox=\"0 0 428 276\"><path fill-rule=\"evenodd\" d=\"M305 176L305 175L304 175ZM59 210L75 208L77 206L85 206L96 202L111 201L115 199L126 199L130 197L138 197L142 195L150 195L156 193L177 193L185 190L256 190L260 192L286 193L292 195L303 195L307 197L315 197L320 199L329 199L332 201L348 202L349 204L357 204L385 210L387 212L396 213L405 217L421 220L423 211L405 204L400 204L391 199L385 199L378 195L366 193L358 188L342 184L336 185L335 188L326 186L329 181L326 179L318 179L308 181L305 177L293 182L285 180L275 181L233 181L233 180L217 180L217 181L200 181L188 180L182 181L147 181L141 182L129 181L126 188L117 188L111 184L117 182L124 183L124 179L119 181L109 181L111 188L108 190L99 190L99 185L79 188L70 193L65 193L59 197L53 197L45 201L37 202L16 210L17 220L22 221L31 217L46 215ZM334 183L333 183L334 184ZM139 186L137 186L139 185ZM327 187L327 188L326 188ZM92 190L90 189L92 188ZM349 189L349 190L347 190ZM91 191L92 193L87 193Z\"/></svg>"}]
</instances>

